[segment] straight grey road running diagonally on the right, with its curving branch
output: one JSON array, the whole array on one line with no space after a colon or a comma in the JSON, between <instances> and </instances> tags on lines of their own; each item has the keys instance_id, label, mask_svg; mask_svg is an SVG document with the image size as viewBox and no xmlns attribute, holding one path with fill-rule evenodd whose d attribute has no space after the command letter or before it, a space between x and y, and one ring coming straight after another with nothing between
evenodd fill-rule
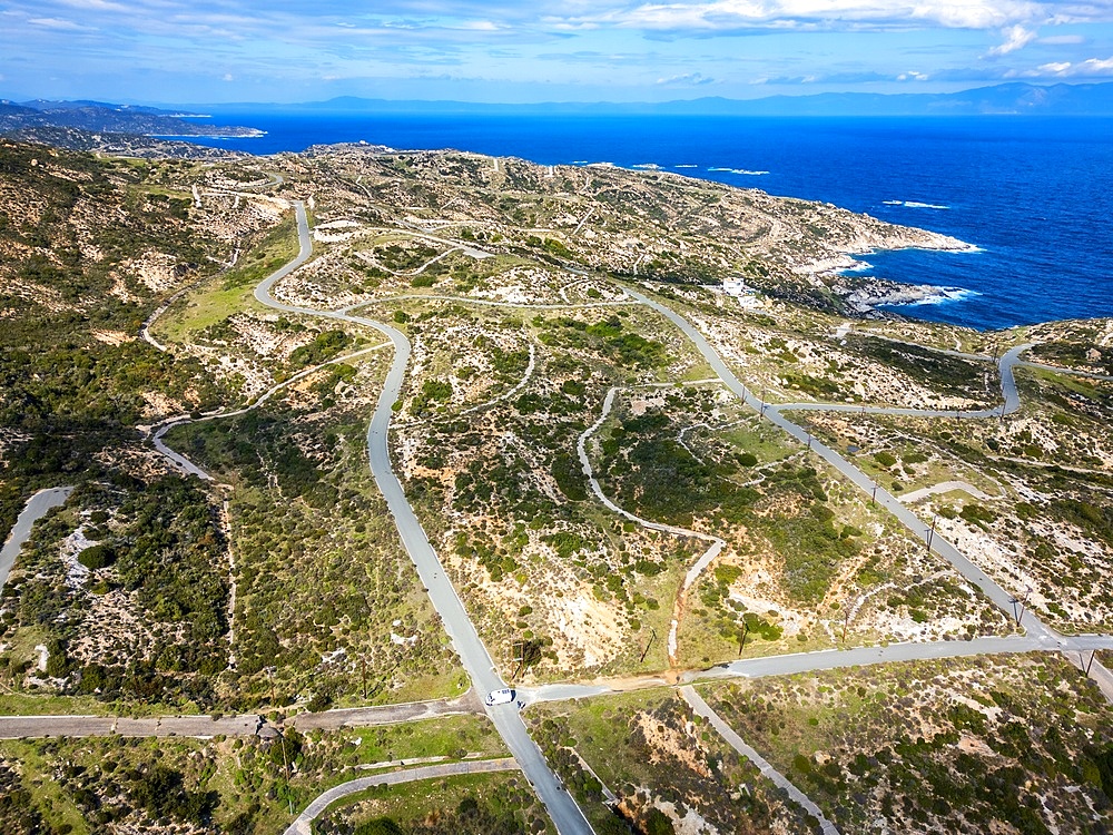
<instances>
[{"instance_id":1,"label":"straight grey road running diagonally on the right, with its curving branch","mask_svg":"<svg viewBox=\"0 0 1113 835\"><path fill-rule=\"evenodd\" d=\"M804 428L792 423L785 415L782 415L777 407L770 406L764 403L759 397L757 397L749 389L742 385L741 381L735 375L727 364L719 356L719 353L711 347L711 344L703 337L699 331L683 316L676 313L669 307L666 307L659 302L654 302L642 293L638 291L627 288L627 292L634 298L642 302L642 304L651 307L652 310L660 313L672 324L679 327L689 340L696 345L699 352L703 355L707 363L715 370L715 373L719 375L723 384L733 392L740 400L742 400L751 409L759 412L764 412L765 415L777 426L780 426L785 432L790 434L792 438L798 440L800 443L806 443L810 445L814 453L819 455L824 461L834 466L838 472L845 475L853 484L855 484L859 490L866 494L873 494L874 489L877 489L876 501L887 511L893 513L900 522L909 530L913 534L922 539L924 542L929 543L930 549L943 557L947 562L955 567L955 569L963 574L969 582L976 586L982 592L994 602L994 605L1008 616L1014 615L1013 601L1015 598L1005 591L1001 586L998 586L994 580L989 579L982 569L966 559L963 553L951 544L946 539L936 534L932 527L920 521L920 519L913 513L908 508L906 508L902 502L899 502L896 497L889 493L887 490L880 488L874 482L866 473L855 466L853 463L843 458L838 452L827 446L824 443L815 440ZM1016 394L1016 381L1013 379L1012 369L1016 364L1017 357L1022 351L1027 348L1026 345L1022 345L1013 348L1001 360L1002 375L1001 375L1001 386L1002 393L1005 396L1005 411L1015 410L1020 406L1020 397ZM765 406L765 409L762 409ZM861 407L858 407L860 411ZM890 414L903 414L902 410L886 410ZM1001 410L986 410L983 412L966 412L967 418L977 416L993 416L999 413ZM932 412L922 412L916 410L916 414L932 414ZM954 412L938 412L940 416L953 415ZM1035 615L1031 612L1026 616L1025 626L1027 627L1028 635L1037 638L1048 648L1056 648L1058 646L1060 636L1053 630L1044 626Z\"/></svg>"}]
</instances>

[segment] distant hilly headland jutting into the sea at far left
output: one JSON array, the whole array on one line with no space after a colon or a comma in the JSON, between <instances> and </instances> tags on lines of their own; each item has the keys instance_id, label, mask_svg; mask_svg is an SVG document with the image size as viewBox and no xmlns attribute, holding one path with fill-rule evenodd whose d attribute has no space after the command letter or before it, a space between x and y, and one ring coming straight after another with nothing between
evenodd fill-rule
<instances>
[{"instance_id":1,"label":"distant hilly headland jutting into the sea at far left","mask_svg":"<svg viewBox=\"0 0 1113 835\"><path fill-rule=\"evenodd\" d=\"M188 117L188 118L187 118ZM102 101L0 100L0 132L39 128L76 128L140 136L258 136L255 128L193 121L204 118L180 110L110 105Z\"/></svg>"}]
</instances>

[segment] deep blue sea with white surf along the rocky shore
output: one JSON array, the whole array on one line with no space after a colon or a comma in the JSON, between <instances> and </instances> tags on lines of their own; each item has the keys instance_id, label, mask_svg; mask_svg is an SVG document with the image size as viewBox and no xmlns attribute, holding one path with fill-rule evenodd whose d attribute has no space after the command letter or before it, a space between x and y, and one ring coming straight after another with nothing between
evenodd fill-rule
<instances>
[{"instance_id":1,"label":"deep blue sea with white surf along the rocky shore","mask_svg":"<svg viewBox=\"0 0 1113 835\"><path fill-rule=\"evenodd\" d=\"M905 315L979 330L1113 316L1113 119L224 112L273 154L365 140L542 164L656 165L953 235L977 253L866 256L864 275L957 288Z\"/></svg>"}]
</instances>

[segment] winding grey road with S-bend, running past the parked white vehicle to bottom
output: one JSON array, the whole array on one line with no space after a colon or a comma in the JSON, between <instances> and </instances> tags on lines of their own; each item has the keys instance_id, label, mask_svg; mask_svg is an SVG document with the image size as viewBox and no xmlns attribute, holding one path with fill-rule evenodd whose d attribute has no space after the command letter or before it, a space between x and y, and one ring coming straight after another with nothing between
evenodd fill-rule
<instances>
[{"instance_id":1,"label":"winding grey road with S-bend, running past the parked white vehicle to bottom","mask_svg":"<svg viewBox=\"0 0 1113 835\"><path fill-rule=\"evenodd\" d=\"M297 235L299 252L296 258L289 264L272 274L258 287L255 288L255 298L268 307L274 307L287 313L298 313L307 316L323 316L335 318L352 324L373 327L385 334L394 343L394 362L386 375L383 393L380 396L378 405L371 419L367 429L367 458L371 464L372 474L378 485L386 504L394 517L394 523L398 529L398 534L405 546L410 558L417 568L417 574L429 590L430 600L437 613L449 638L452 640L456 654L463 662L464 669L472 679L472 686L477 692L489 692L505 687L505 682L499 676L486 647L480 640L479 633L464 606L456 595L455 588L449 580L437 559L436 551L425 536L425 531L417 521L413 508L406 500L402 484L391 464L388 449L388 432L391 416L395 401L402 392L402 383L405 379L406 366L410 362L410 341L405 335L374 320L362 316L352 316L343 312L315 311L308 307L296 307L275 301L270 295L270 288L276 282L282 281L293 273L313 254L313 244L309 238L309 224L305 215L305 204L302 200L294 202L294 210L297 216ZM494 723L503 740L514 755L522 772L530 780L541 802L549 811L556 831L561 835L572 835L572 833L592 833L591 825L583 816L580 807L556 782L556 777L549 768L541 749L530 737L522 721L521 714L513 705L500 705L487 708L487 715Z\"/></svg>"}]
</instances>

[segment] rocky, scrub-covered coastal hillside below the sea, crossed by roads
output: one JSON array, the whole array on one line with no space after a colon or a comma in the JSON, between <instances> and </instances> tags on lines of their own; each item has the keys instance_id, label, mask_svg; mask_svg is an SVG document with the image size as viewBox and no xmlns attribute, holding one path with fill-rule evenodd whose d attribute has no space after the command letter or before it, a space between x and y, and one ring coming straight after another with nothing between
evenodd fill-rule
<instances>
[{"instance_id":1,"label":"rocky, scrub-covered coastal hillside below the sea, crossed by roads","mask_svg":"<svg viewBox=\"0 0 1113 835\"><path fill-rule=\"evenodd\" d=\"M1111 825L1113 323L861 314L855 253L964 245L661 171L0 141L0 529L76 488L3 584L0 736L248 726L0 743L11 831L278 833L435 757L447 806L318 831L555 832L524 758L464 774L511 723L601 833Z\"/></svg>"}]
</instances>

